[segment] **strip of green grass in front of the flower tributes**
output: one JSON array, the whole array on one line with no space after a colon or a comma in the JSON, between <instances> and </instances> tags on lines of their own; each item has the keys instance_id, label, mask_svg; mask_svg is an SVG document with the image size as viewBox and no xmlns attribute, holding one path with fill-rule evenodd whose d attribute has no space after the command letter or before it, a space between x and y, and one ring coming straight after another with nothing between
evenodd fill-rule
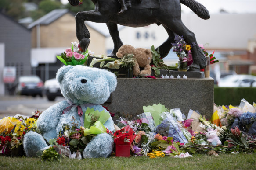
<instances>
[{"instance_id":1,"label":"strip of green grass in front of the flower tributes","mask_svg":"<svg viewBox=\"0 0 256 170\"><path fill-rule=\"evenodd\" d=\"M0 170L252 170L256 154L196 154L189 158L110 157L42 162L39 158L11 158L0 156Z\"/></svg>"}]
</instances>

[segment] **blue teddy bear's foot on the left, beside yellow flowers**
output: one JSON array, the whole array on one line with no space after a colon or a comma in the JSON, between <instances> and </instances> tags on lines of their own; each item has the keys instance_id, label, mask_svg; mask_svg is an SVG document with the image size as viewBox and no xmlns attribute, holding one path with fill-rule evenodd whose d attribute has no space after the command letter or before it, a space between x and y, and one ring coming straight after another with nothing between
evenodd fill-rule
<instances>
[{"instance_id":1,"label":"blue teddy bear's foot on the left, beside yellow flowers","mask_svg":"<svg viewBox=\"0 0 256 170\"><path fill-rule=\"evenodd\" d=\"M42 135L33 131L29 131L24 135L23 147L26 156L36 156L36 152L45 148L46 146L47 144Z\"/></svg>"}]
</instances>

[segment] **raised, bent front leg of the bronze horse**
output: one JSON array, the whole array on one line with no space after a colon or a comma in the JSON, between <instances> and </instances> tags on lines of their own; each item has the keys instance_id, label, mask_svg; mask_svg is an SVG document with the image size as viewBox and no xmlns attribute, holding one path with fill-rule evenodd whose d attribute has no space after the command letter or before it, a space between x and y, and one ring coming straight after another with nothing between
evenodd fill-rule
<instances>
[{"instance_id":1,"label":"raised, bent front leg of the bronze horse","mask_svg":"<svg viewBox=\"0 0 256 170\"><path fill-rule=\"evenodd\" d=\"M90 33L84 21L106 23L108 19L99 11L79 11L76 14L76 37L83 51L86 51L90 44Z\"/></svg>"}]
</instances>

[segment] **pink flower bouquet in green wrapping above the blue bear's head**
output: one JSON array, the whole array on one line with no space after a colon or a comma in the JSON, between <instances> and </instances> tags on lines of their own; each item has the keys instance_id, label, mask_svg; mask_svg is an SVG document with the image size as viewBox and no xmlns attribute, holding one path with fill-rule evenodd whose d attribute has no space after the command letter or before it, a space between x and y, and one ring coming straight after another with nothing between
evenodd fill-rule
<instances>
[{"instance_id":1,"label":"pink flower bouquet in green wrapping above the blue bear's head","mask_svg":"<svg viewBox=\"0 0 256 170\"><path fill-rule=\"evenodd\" d=\"M65 65L82 65L86 62L89 55L88 50L83 52L78 42L71 43L71 49L66 49L61 53L61 56L56 56Z\"/></svg>"}]
</instances>

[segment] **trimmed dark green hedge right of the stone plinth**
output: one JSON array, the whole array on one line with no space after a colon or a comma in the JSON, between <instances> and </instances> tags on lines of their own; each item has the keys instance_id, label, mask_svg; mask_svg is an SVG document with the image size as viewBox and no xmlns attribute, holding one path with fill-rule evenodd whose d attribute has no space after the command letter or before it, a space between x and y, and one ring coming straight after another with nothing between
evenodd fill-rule
<instances>
[{"instance_id":1,"label":"trimmed dark green hedge right of the stone plinth","mask_svg":"<svg viewBox=\"0 0 256 170\"><path fill-rule=\"evenodd\" d=\"M237 106L243 98L250 104L256 102L256 87L214 87L216 105Z\"/></svg>"}]
</instances>

